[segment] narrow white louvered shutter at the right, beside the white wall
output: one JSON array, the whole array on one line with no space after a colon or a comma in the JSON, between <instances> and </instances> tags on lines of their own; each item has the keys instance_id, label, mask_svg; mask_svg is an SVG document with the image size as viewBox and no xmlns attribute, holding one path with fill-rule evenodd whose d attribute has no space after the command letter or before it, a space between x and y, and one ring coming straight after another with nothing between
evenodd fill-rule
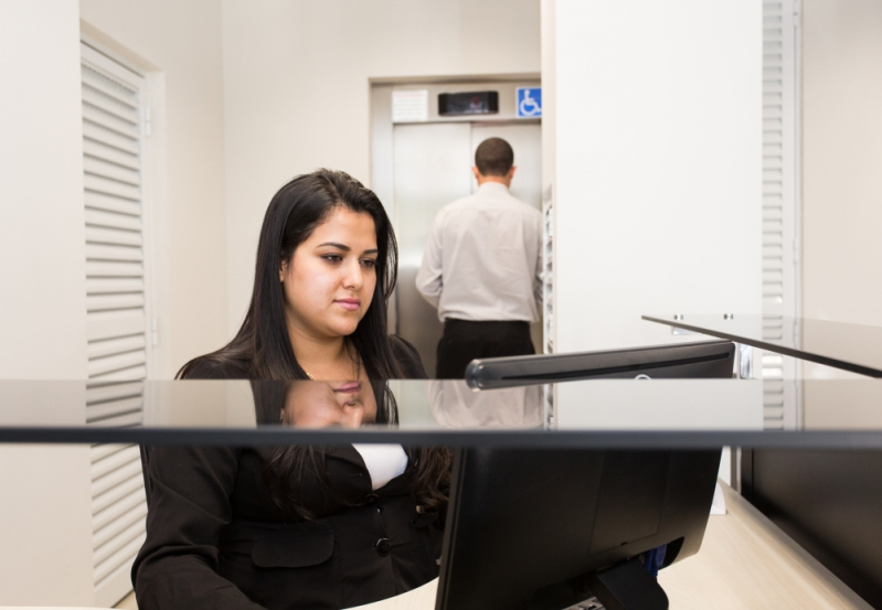
<instances>
[{"instance_id":1,"label":"narrow white louvered shutter at the right, beside the white wall","mask_svg":"<svg viewBox=\"0 0 882 610\"><path fill-rule=\"evenodd\" d=\"M763 339L797 338L797 0L763 2ZM789 320L785 320L789 318ZM796 361L762 355L766 428L796 422Z\"/></svg>"}]
</instances>

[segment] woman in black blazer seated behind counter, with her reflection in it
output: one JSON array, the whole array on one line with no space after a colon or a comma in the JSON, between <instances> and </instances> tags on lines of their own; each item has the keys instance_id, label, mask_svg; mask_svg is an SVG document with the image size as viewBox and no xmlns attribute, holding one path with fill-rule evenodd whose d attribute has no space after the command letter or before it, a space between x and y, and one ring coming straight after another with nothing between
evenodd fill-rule
<instances>
[{"instance_id":1,"label":"woman in black blazer seated behind counter, with her reflection in it","mask_svg":"<svg viewBox=\"0 0 882 610\"><path fill-rule=\"evenodd\" d=\"M266 212L242 328L178 376L286 379L253 383L258 420L395 422L383 379L425 377L386 334L396 254L373 192L342 172L296 178ZM437 576L446 450L160 447L147 475L142 610L348 608Z\"/></svg>"}]
</instances>

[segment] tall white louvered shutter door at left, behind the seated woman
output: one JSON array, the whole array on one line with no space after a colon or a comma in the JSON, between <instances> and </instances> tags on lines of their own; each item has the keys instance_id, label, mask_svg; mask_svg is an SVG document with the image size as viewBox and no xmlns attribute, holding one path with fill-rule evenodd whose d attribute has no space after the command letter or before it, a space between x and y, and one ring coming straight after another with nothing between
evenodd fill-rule
<instances>
[{"instance_id":1,"label":"tall white louvered shutter door at left, behind the seated woman","mask_svg":"<svg viewBox=\"0 0 882 610\"><path fill-rule=\"evenodd\" d=\"M150 363L142 154L145 79L83 43L86 218L86 417L92 426L141 424ZM144 478L136 446L92 447L95 604L131 591L145 538Z\"/></svg>"}]
</instances>

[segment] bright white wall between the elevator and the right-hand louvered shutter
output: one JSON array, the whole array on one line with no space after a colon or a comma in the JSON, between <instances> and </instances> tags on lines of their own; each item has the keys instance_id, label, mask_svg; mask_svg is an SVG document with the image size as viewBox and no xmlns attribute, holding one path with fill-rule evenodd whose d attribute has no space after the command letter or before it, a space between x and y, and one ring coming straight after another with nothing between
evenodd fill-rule
<instances>
[{"instance_id":1,"label":"bright white wall between the elevator and the right-hand louvered shutter","mask_svg":"<svg viewBox=\"0 0 882 610\"><path fill-rule=\"evenodd\" d=\"M676 339L645 313L759 313L762 3L546 2L556 351Z\"/></svg>"}]
</instances>

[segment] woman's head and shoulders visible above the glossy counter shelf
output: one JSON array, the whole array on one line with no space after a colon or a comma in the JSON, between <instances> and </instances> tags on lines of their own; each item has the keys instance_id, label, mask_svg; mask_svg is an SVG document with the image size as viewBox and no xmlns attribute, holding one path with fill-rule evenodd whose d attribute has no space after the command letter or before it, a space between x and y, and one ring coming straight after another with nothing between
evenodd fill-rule
<instances>
[{"instance_id":1,"label":"woman's head and shoulders visible above the glossy counter shelf","mask_svg":"<svg viewBox=\"0 0 882 610\"><path fill-rule=\"evenodd\" d=\"M343 172L298 176L266 211L235 339L178 376L424 378L413 346L386 335L396 267L395 235L371 190Z\"/></svg>"}]
</instances>

